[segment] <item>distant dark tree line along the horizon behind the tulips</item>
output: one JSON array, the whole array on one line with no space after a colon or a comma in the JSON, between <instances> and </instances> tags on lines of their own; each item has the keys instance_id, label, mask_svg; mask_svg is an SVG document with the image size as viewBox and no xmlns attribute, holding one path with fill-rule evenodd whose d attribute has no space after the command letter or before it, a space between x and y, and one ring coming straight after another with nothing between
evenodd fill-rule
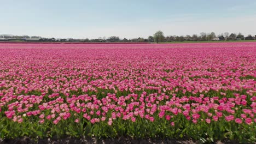
<instances>
[{"instance_id":1,"label":"distant dark tree line along the horizon behind the tulips","mask_svg":"<svg viewBox=\"0 0 256 144\"><path fill-rule=\"evenodd\" d=\"M252 35L248 35L244 37L242 33L222 33L216 35L214 32L205 33L202 32L199 35L168 35L165 37L162 31L157 31L154 35L150 35L148 38L133 38L133 39L120 39L117 36L112 36L109 38L99 37L97 39L55 39L55 38L42 38L39 36L28 36L28 35L8 35L1 34L0 40L4 41L6 39L20 39L24 41L29 41L30 39L36 41L44 41L44 42L55 42L55 41L67 41L67 42L86 42L86 43L114 43L114 42L150 42L150 43L162 43L162 42L172 42L172 41L212 41L212 40L253 40L256 39L256 35L253 37Z\"/></svg>"}]
</instances>

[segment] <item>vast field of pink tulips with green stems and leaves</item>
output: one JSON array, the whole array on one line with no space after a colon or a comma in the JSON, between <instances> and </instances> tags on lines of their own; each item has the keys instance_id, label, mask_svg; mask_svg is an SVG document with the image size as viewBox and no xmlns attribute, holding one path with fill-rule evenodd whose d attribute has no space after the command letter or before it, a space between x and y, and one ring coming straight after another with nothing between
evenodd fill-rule
<instances>
[{"instance_id":1,"label":"vast field of pink tulips with green stems and leaves","mask_svg":"<svg viewBox=\"0 0 256 144\"><path fill-rule=\"evenodd\" d=\"M256 141L256 43L1 44L0 138Z\"/></svg>"}]
</instances>

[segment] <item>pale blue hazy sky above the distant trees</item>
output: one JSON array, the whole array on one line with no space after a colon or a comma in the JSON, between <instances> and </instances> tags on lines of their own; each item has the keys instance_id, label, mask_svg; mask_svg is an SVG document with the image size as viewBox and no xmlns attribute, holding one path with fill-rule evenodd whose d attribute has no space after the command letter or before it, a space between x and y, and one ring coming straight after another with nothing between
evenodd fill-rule
<instances>
[{"instance_id":1,"label":"pale blue hazy sky above the distant trees","mask_svg":"<svg viewBox=\"0 0 256 144\"><path fill-rule=\"evenodd\" d=\"M256 1L0 0L0 34L147 38L224 32L256 35Z\"/></svg>"}]
</instances>

